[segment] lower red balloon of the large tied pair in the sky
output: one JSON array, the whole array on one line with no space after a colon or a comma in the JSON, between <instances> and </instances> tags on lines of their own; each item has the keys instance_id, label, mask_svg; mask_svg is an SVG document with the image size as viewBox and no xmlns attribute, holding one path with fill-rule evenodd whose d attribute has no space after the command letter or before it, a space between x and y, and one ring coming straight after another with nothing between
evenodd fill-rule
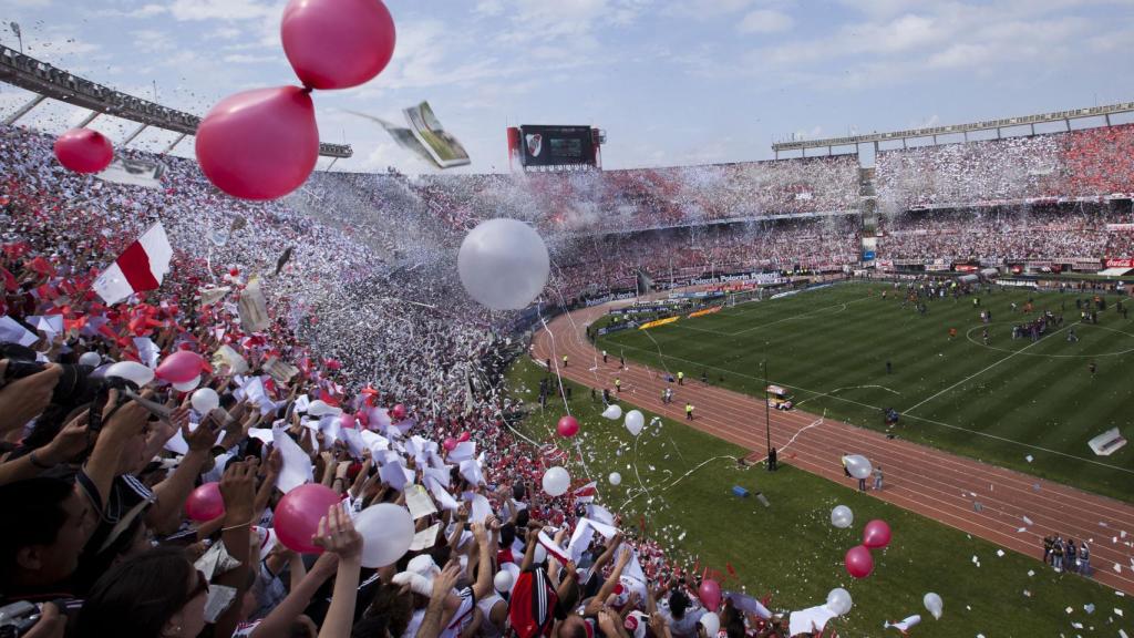
<instances>
[{"instance_id":1,"label":"lower red balloon of the large tied pair in the sky","mask_svg":"<svg viewBox=\"0 0 1134 638\"><path fill-rule=\"evenodd\" d=\"M245 200L273 200L303 184L319 160L319 126L307 91L257 89L225 98L197 126L205 177Z\"/></svg>"}]
</instances>

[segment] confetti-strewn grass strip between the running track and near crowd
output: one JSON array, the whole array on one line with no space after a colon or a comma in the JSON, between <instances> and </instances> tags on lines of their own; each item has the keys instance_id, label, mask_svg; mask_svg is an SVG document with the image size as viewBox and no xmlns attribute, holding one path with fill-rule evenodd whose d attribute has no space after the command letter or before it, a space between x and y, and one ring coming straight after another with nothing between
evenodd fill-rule
<instances>
[{"instance_id":1,"label":"confetti-strewn grass strip between the running track and near crowd","mask_svg":"<svg viewBox=\"0 0 1134 638\"><path fill-rule=\"evenodd\" d=\"M540 443L556 440L551 433L565 411L561 400L549 402L547 410L534 403L543 373L521 360L508 376L509 393L528 410L517 428ZM584 469L577 452L573 455L567 464L572 477L581 481L590 470L599 480L599 502L624 515L624 529L644 520L645 536L658 540L669 556L688 568L700 562L721 572L726 589L743 587L756 597L771 594L773 610L799 610L822 604L835 587L846 587L855 606L833 624L840 636L897 637L896 631L883 631L882 622L914 613L924 620L912 635L929 638L1131 631L1131 623L1111 610L1127 614L1134 610L1103 586L1057 574L1013 552L999 556L991 543L795 468L775 473L762 467L739 468L735 457L744 454L742 448L676 421L646 426L635 439L621 421L599 415L602 406L592 402L586 388L565 383L573 389L572 412L582 423L577 451L586 461ZM651 417L646 412L648 421ZM618 487L604 478L613 471L621 475ZM771 506L733 496L735 485L762 492ZM854 511L849 529L831 527L830 511L837 504ZM843 555L861 542L863 524L875 518L890 523L894 540L885 551L875 551L874 573L854 580L843 569ZM728 576L728 564L736 577ZM940 621L922 606L928 591L945 599ZM1091 615L1084 611L1088 604L1097 607ZM1075 630L1073 622L1097 631Z\"/></svg>"}]
</instances>

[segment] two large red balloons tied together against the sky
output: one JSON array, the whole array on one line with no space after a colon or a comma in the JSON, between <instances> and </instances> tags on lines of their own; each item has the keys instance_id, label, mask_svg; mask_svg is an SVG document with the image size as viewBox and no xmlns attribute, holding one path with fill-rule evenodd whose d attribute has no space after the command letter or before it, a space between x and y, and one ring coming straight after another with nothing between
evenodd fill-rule
<instances>
[{"instance_id":1,"label":"two large red balloons tied together against the sky","mask_svg":"<svg viewBox=\"0 0 1134 638\"><path fill-rule=\"evenodd\" d=\"M229 95L197 127L201 170L236 198L272 200L299 187L319 159L311 91L369 82L389 64L396 40L381 0L290 0L280 35L303 87Z\"/></svg>"}]
</instances>

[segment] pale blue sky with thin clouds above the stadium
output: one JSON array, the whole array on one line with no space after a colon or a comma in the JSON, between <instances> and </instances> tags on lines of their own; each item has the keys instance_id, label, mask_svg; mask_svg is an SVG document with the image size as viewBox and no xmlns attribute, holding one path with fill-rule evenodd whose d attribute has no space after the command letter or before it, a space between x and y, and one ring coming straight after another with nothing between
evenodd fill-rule
<instances>
[{"instance_id":1,"label":"pale blue sky with thin clouds above the stadium","mask_svg":"<svg viewBox=\"0 0 1134 638\"><path fill-rule=\"evenodd\" d=\"M296 83L277 0L0 0L32 56L203 115L225 95ZM1134 100L1134 0L389 0L390 67L318 92L335 169L429 167L359 110L401 121L428 99L471 170L503 170L508 124L607 131L607 168L771 157L773 140ZM10 30L0 42L15 47ZM26 99L0 86L0 109ZM57 132L85 114L43 107ZM99 128L122 138L112 118ZM138 138L163 148L171 134ZM178 154L192 152L183 143ZM325 165L321 165L325 166Z\"/></svg>"}]
</instances>

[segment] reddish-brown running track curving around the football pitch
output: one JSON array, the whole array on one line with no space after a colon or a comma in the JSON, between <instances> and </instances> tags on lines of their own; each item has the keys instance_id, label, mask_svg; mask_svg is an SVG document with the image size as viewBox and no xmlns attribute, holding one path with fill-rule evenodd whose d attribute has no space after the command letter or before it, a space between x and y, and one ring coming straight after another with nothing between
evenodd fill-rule
<instances>
[{"instance_id":1,"label":"reddish-brown running track curving around the football pitch","mask_svg":"<svg viewBox=\"0 0 1134 638\"><path fill-rule=\"evenodd\" d=\"M695 418L686 425L753 451L750 460L764 457L762 401L691 377L684 386L667 384L661 373L637 362L627 362L625 370L615 358L603 364L586 341L585 327L606 312L607 307L595 307L557 318L535 335L533 355L550 359L564 377L600 391L613 392L615 378L620 378L620 398L655 414L684 420L688 401ZM565 354L569 364L562 368ZM667 385L674 388L668 405L661 402ZM843 473L841 457L863 454L886 475L882 490L870 495L1038 560L1046 535L1070 536L1076 543L1085 538L1093 578L1134 594L1132 505L799 410L772 410L771 438L780 462L855 487L857 481ZM980 512L974 502L981 503Z\"/></svg>"}]
</instances>

